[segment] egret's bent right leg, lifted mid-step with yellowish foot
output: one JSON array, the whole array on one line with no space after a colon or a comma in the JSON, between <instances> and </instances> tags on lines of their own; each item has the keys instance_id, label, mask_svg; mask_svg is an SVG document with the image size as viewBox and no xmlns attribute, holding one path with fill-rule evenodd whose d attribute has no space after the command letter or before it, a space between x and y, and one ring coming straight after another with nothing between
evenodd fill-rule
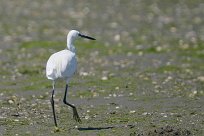
<instances>
[{"instance_id":1,"label":"egret's bent right leg, lifted mid-step with yellowish foot","mask_svg":"<svg viewBox=\"0 0 204 136\"><path fill-rule=\"evenodd\" d=\"M73 118L77 121L77 122L81 122L81 119L79 117L79 114L77 112L77 109L74 105L70 104L67 102L67 90L68 90L68 84L66 84L66 88L65 88L65 94L64 94L64 99L63 99L63 102L64 104L70 106L72 109L73 109Z\"/></svg>"}]
</instances>

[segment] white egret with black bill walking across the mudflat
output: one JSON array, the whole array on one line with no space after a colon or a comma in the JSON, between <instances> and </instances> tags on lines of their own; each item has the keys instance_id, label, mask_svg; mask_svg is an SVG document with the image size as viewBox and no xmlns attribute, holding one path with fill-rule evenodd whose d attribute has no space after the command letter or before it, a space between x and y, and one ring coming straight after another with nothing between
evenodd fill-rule
<instances>
[{"instance_id":1,"label":"white egret with black bill walking across the mudflat","mask_svg":"<svg viewBox=\"0 0 204 136\"><path fill-rule=\"evenodd\" d=\"M95 40L94 38L83 35L76 30L71 30L67 35L67 48L65 50L52 54L48 59L47 65L46 65L46 76L48 79L52 80L52 83L53 83L51 105L52 105L52 111L54 116L54 123L56 127L57 127L57 121L56 121L56 115L55 115L53 96L55 92L55 81L59 78L63 78L64 80L66 80L66 88L65 88L63 102L64 104L70 106L73 109L73 118L77 122L81 122L79 115L77 113L76 107L68 103L66 100L69 80L71 79L71 77L73 76L73 74L77 69L76 53L75 53L75 47L73 42L78 37Z\"/></svg>"}]
</instances>

